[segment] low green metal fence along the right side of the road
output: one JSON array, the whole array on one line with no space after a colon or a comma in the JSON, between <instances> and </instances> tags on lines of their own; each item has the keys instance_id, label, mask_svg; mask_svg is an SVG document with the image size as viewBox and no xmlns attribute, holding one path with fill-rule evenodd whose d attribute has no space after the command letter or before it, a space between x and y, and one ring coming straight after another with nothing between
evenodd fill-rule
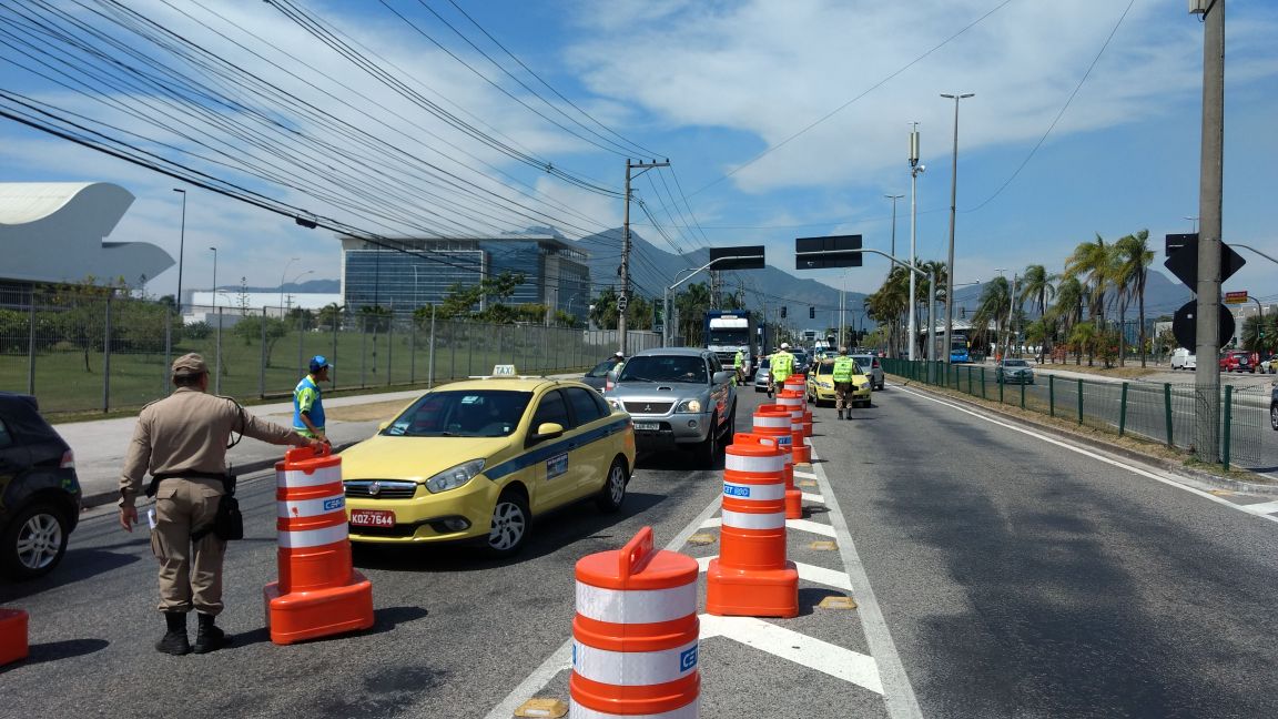
<instances>
[{"instance_id":1,"label":"low green metal fence along the right side of the road","mask_svg":"<svg viewBox=\"0 0 1278 719\"><path fill-rule=\"evenodd\" d=\"M998 381L993 367L882 360L883 371L973 397L1042 412L1118 436L1139 435L1192 449L1195 386L1181 383L1103 381L1039 374L1034 384ZM930 372L929 372L930 370ZM1220 450L1228 467L1278 470L1278 432L1269 426L1268 383L1226 384L1220 394Z\"/></svg>"}]
</instances>

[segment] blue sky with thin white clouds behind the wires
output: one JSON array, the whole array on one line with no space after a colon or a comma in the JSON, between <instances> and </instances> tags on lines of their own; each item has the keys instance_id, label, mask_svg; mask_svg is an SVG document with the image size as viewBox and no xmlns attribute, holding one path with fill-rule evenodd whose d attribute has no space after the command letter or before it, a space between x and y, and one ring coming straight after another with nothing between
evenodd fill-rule
<instances>
[{"instance_id":1,"label":"blue sky with thin white clouds behind the wires","mask_svg":"<svg viewBox=\"0 0 1278 719\"><path fill-rule=\"evenodd\" d=\"M70 3L49 3L83 12ZM958 283L988 280L999 267L1010 274L1031 262L1059 271L1072 248L1097 233L1117 239L1140 229L1150 232L1160 267L1163 235L1189 232L1192 220L1185 217L1199 214L1203 27L1186 13L1182 0L456 3L474 23L449 0L123 3L417 159L396 171L422 177L426 170L413 162L431 160L468 187L482 188L486 197L459 196L450 205L432 205L417 194L410 216L383 212L376 226L367 214L316 191L323 180L308 171L285 173L295 182L267 182L210 161L207 154L204 160L192 159L184 152L197 147L188 139L54 86L18 67L33 63L12 46L0 45L0 77L6 78L5 87L27 97L111 122L148 139L165 139L174 148L158 152L263 197L389 234L447 234L458 225L440 217L469 212L459 210L466 202L483 212L482 220L470 220L468 226L486 230L538 224L527 219L525 210L564 219L558 226L569 237L620 225L622 203L616 194L629 152L599 148L528 105L580 136L593 137L583 129L589 127L598 136L625 138L617 142L670 159L671 170L653 170L634 184L636 197L662 226L652 226L634 206L631 216L636 232L671 251L766 244L769 264L792 270L796 237L860 233L868 247L887 249L892 205L884 194L905 194L896 223L898 255L905 255L910 237L907 138L916 122L927 165L918 183L918 252L925 260L943 260L953 101L941 99L942 92L975 93L960 109ZM484 133L608 192L589 192L538 173L443 127L307 36L285 18L281 5L289 4L358 40L376 52L378 65L394 68L413 87L428 88L420 92L473 118ZM176 6L189 17L178 14ZM527 87L496 70L429 9ZM9 12L0 13L0 28L12 31L15 23ZM258 38L242 28L252 28ZM1278 256L1278 139L1273 129L1278 4L1229 0L1226 28L1224 238ZM427 35L491 82L431 43ZM493 38L571 105L505 55ZM148 52L158 56L158 51ZM173 65L184 67L181 61ZM355 100L351 90L363 99ZM116 99L125 106L137 102L128 92L123 95ZM339 106L331 100L335 95L353 102ZM254 106L244 88L234 96ZM9 106L0 101L0 107ZM304 116L279 113L298 133L334 137ZM374 123L369 115L386 122ZM567 116L581 124L571 124ZM222 147L238 155L235 142L242 141L227 137ZM441 148L452 159L433 155ZM630 156L649 159L640 151ZM286 160L280 161L286 166ZM211 279L211 246L219 247L220 284L244 276L250 285L276 285L286 265L286 280L307 270L313 270L307 279L336 278L340 271L332 233L298 228L286 217L4 119L0 166L5 182L124 186L137 201L110 239L153 242L174 256L180 196L171 188L189 188L188 289L206 287ZM345 187L358 186L358 177L348 177ZM505 207L521 210L497 209L492 198L498 196ZM1278 296L1273 289L1278 267L1254 253L1242 255L1249 264L1226 289ZM290 262L291 257L299 260ZM849 271L847 288L874 290L883 262L872 257L865 269ZM842 281L837 271L812 276L835 287ZM175 285L174 269L152 279L148 292L170 293Z\"/></svg>"}]
</instances>

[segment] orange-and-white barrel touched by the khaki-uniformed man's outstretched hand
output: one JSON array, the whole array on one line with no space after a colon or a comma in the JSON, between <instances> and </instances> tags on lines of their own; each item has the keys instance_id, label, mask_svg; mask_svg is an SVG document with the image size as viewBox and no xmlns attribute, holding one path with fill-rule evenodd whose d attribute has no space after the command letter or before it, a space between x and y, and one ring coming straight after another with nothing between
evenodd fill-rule
<instances>
[{"instance_id":1,"label":"orange-and-white barrel touched by the khaki-uniformed man's outstretched hand","mask_svg":"<svg viewBox=\"0 0 1278 719\"><path fill-rule=\"evenodd\" d=\"M354 569L341 457L290 449L275 466L280 580L262 590L275 644L373 626L373 585Z\"/></svg>"}]
</instances>

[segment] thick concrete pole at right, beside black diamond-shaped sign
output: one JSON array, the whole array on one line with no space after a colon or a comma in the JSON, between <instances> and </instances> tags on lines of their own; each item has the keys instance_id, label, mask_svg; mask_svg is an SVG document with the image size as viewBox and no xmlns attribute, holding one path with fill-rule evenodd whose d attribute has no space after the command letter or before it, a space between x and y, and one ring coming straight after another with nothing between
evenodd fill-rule
<instances>
[{"instance_id":1,"label":"thick concrete pole at right, beside black diamond-shaped sign","mask_svg":"<svg viewBox=\"0 0 1278 719\"><path fill-rule=\"evenodd\" d=\"M1224 0L1199 1L1203 13L1203 148L1199 169L1197 356L1194 397L1200 459L1220 459L1220 215L1224 174ZM1191 12L1194 6L1191 5Z\"/></svg>"}]
</instances>

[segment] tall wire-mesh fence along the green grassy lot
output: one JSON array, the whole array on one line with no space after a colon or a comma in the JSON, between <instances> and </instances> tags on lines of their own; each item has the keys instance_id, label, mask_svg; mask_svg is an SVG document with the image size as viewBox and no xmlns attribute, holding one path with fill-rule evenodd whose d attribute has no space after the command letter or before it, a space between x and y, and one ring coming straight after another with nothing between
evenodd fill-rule
<instances>
[{"instance_id":1,"label":"tall wire-mesh fence along the green grassy lot","mask_svg":"<svg viewBox=\"0 0 1278 719\"><path fill-rule=\"evenodd\" d=\"M489 325L367 312L279 307L188 308L110 292L0 296L0 390L35 394L51 413L141 407L170 390L169 366L204 356L211 391L238 398L291 394L309 358L334 365L328 391L406 388L488 374L592 367L617 349L617 333ZM192 322L193 317L199 321ZM631 352L659 347L627 333Z\"/></svg>"}]
</instances>

